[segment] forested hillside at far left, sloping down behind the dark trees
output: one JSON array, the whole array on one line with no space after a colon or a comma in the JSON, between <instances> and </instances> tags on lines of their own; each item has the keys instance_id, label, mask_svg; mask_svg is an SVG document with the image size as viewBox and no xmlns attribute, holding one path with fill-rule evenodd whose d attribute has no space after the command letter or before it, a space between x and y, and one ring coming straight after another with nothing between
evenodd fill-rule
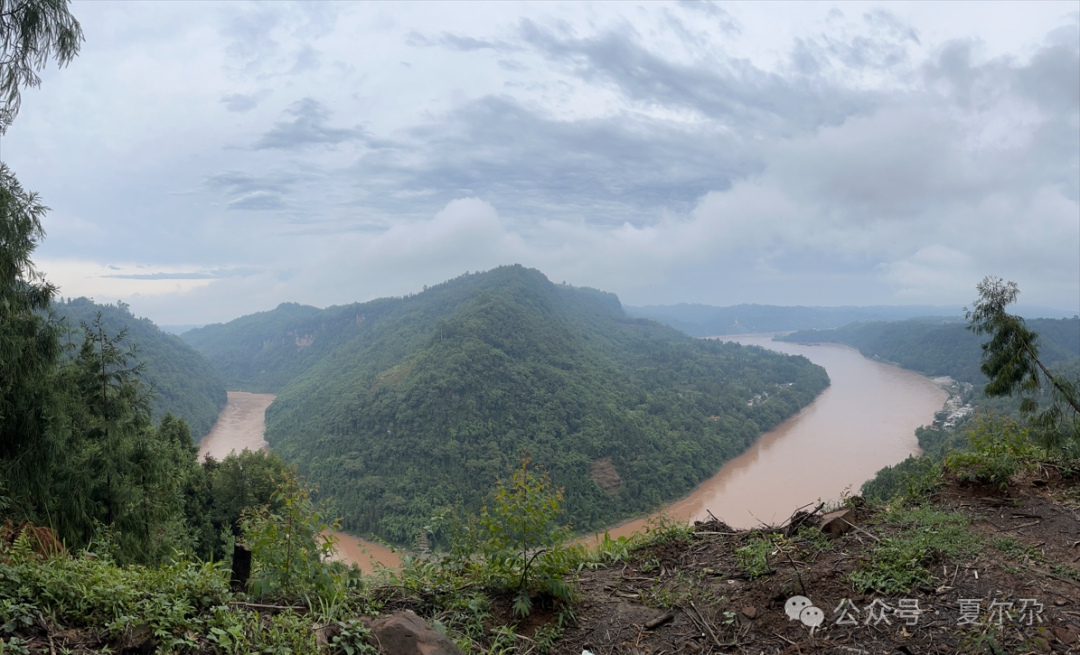
<instances>
[{"instance_id":1,"label":"forested hillside at far left, sloping down behind the dark trees","mask_svg":"<svg viewBox=\"0 0 1080 655\"><path fill-rule=\"evenodd\" d=\"M137 345L143 382L153 387L150 411L154 423L166 413L188 422L191 436L199 441L214 427L225 406L225 378L202 355L175 335L158 329L149 319L137 319L127 306L99 305L87 298L53 304L59 318L73 329L72 339L82 340L82 323L91 323L102 312L102 325L109 335L127 330L120 347Z\"/></svg>"}]
</instances>

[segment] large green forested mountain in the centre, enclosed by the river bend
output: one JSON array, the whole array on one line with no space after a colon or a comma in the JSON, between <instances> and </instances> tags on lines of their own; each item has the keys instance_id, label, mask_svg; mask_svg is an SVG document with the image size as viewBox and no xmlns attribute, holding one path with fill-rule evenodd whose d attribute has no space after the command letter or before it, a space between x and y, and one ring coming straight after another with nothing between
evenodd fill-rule
<instances>
[{"instance_id":1,"label":"large green forested mountain in the centre, enclosed by the river bend","mask_svg":"<svg viewBox=\"0 0 1080 655\"><path fill-rule=\"evenodd\" d=\"M185 338L230 387L278 392L272 447L334 496L347 529L397 543L440 508L477 510L525 451L579 530L652 509L828 384L804 358L630 319L612 294L521 266Z\"/></svg>"}]
</instances>

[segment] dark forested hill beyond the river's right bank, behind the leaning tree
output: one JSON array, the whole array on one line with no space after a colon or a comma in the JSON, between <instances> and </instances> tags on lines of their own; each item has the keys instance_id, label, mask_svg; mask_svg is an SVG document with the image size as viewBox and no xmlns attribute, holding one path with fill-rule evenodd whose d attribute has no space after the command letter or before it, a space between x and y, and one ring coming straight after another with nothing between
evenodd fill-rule
<instances>
[{"instance_id":1,"label":"dark forested hill beyond the river's right bank, behind the leaning tree","mask_svg":"<svg viewBox=\"0 0 1080 655\"><path fill-rule=\"evenodd\" d=\"M1040 359L1047 365L1059 366L1080 358L1080 319L1031 319L1027 325L1039 334ZM777 338L846 344L865 357L897 363L924 375L948 375L975 386L986 383L978 370L981 344L986 339L959 321L852 323L838 330L805 330Z\"/></svg>"}]
</instances>

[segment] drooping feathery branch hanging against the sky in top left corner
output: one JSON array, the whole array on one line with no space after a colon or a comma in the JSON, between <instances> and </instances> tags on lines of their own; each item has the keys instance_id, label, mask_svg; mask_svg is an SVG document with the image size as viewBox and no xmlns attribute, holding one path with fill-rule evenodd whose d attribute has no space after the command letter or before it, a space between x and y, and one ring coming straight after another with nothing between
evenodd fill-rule
<instances>
[{"instance_id":1,"label":"drooping feathery branch hanging against the sky in top left corner","mask_svg":"<svg viewBox=\"0 0 1080 655\"><path fill-rule=\"evenodd\" d=\"M0 0L0 134L18 113L21 88L41 84L50 57L69 64L82 41L68 0Z\"/></svg>"}]
</instances>

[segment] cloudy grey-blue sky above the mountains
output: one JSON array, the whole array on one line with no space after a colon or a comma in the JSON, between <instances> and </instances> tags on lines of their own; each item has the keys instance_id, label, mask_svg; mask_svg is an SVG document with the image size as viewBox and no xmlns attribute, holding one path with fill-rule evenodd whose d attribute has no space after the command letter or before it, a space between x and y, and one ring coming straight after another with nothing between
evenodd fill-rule
<instances>
[{"instance_id":1,"label":"cloudy grey-blue sky above the mountains","mask_svg":"<svg viewBox=\"0 0 1080 655\"><path fill-rule=\"evenodd\" d=\"M626 305L1080 309L1080 2L75 2L0 160L159 324L503 264Z\"/></svg>"}]
</instances>

